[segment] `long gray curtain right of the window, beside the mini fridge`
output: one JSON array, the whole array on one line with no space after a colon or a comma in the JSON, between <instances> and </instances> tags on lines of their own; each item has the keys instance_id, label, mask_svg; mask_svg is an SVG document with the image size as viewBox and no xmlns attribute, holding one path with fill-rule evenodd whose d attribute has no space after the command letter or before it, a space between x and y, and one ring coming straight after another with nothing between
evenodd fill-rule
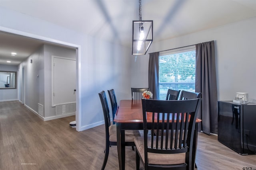
<instances>
[{"instance_id":1,"label":"long gray curtain right of the window, beside the mini fridge","mask_svg":"<svg viewBox=\"0 0 256 170\"><path fill-rule=\"evenodd\" d=\"M202 92L202 119L198 130L210 135L218 133L217 83L214 41L196 44L196 92Z\"/></svg>"}]
</instances>

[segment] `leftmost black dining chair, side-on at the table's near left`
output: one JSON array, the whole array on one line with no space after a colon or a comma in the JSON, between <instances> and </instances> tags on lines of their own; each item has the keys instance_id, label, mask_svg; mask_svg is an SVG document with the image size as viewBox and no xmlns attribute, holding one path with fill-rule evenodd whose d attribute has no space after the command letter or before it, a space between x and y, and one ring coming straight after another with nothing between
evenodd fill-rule
<instances>
[{"instance_id":1,"label":"leftmost black dining chair, side-on at the table's near left","mask_svg":"<svg viewBox=\"0 0 256 170\"><path fill-rule=\"evenodd\" d=\"M108 107L106 92L105 91L100 92L99 97L100 97L100 102L101 102L102 110L104 114L105 135L106 135L105 156L104 156L104 162L101 168L101 170L104 170L108 161L109 147L117 145L116 124L111 125L111 122L110 122L109 107ZM127 130L124 133L125 133L125 145L134 147L135 146L134 139L135 137L140 137L140 132Z\"/></svg>"}]
</instances>

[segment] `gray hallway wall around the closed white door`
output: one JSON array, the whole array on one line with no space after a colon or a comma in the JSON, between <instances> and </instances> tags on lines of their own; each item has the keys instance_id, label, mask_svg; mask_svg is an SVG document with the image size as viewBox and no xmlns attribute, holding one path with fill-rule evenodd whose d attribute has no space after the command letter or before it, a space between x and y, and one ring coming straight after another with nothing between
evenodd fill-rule
<instances>
[{"instance_id":1,"label":"gray hallway wall around the closed white door","mask_svg":"<svg viewBox=\"0 0 256 170\"><path fill-rule=\"evenodd\" d=\"M37 113L38 103L42 104L44 106L44 118L55 116L55 107L51 106L52 55L76 58L76 51L53 45L43 45L19 65L20 77L22 77L22 67L25 68L24 104Z\"/></svg>"}]
</instances>

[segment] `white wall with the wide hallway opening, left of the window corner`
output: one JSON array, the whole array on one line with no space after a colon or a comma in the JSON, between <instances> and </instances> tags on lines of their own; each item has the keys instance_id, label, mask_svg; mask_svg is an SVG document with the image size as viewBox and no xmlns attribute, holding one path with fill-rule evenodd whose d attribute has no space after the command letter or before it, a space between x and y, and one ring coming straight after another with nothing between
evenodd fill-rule
<instances>
[{"instance_id":1,"label":"white wall with the wide hallway opening, left of the window corner","mask_svg":"<svg viewBox=\"0 0 256 170\"><path fill-rule=\"evenodd\" d=\"M98 92L114 88L118 100L131 98L130 48L121 47L118 42L109 43L94 39L2 7L0 27L80 45L81 61L78 61L78 71L81 70L81 117L80 122L77 122L77 125L80 125L79 131L104 123Z\"/></svg>"}]
</instances>

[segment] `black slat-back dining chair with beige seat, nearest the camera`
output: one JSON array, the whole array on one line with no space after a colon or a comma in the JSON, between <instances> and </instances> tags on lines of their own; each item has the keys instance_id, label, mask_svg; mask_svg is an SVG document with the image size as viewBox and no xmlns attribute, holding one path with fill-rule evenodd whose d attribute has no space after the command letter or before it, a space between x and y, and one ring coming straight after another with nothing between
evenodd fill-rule
<instances>
[{"instance_id":1,"label":"black slat-back dining chair with beige seat, nearest the camera","mask_svg":"<svg viewBox=\"0 0 256 170\"><path fill-rule=\"evenodd\" d=\"M144 137L136 137L136 170L140 160L145 170L189 170L192 168L192 146L196 115L201 99L142 99ZM148 112L150 112L148 114ZM190 114L189 114L190 113ZM164 122L162 120L165 120ZM166 135L154 130L166 130ZM148 135L148 131L151 134Z\"/></svg>"}]
</instances>

